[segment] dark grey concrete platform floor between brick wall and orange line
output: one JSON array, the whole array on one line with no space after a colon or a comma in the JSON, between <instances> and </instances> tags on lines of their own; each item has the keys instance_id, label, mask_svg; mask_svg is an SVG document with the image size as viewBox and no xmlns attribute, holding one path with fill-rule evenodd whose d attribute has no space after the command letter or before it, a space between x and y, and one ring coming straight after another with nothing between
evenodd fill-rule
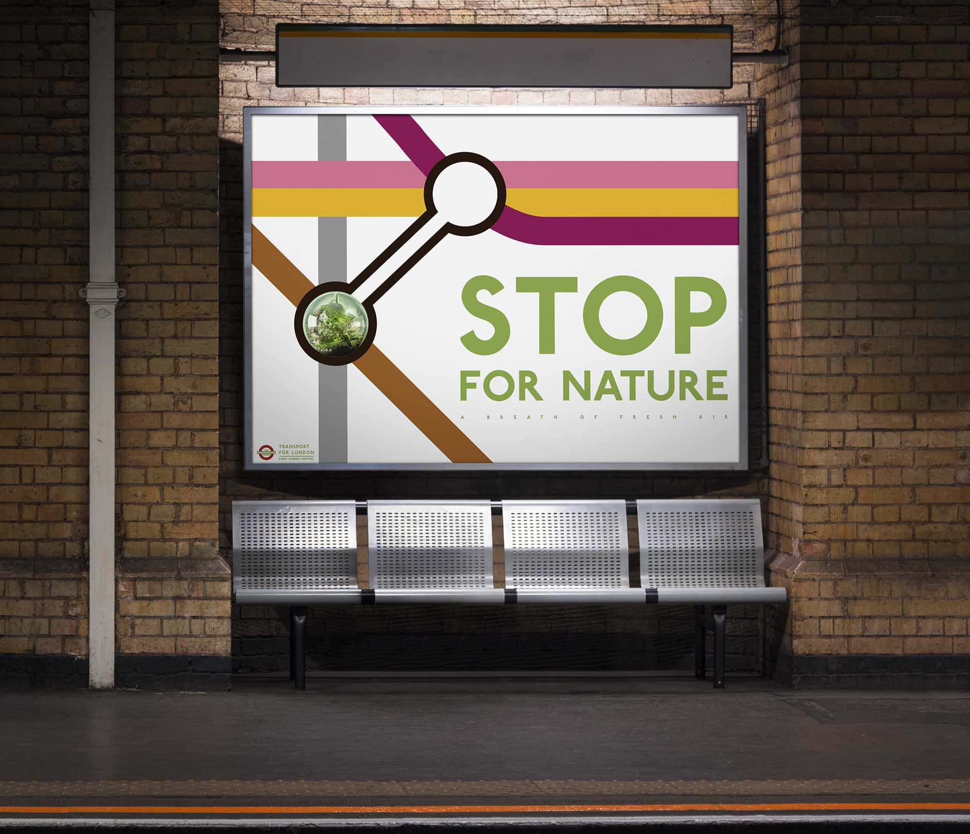
<instances>
[{"instance_id":1,"label":"dark grey concrete platform floor between brick wall and orange line","mask_svg":"<svg viewBox=\"0 0 970 834\"><path fill-rule=\"evenodd\" d=\"M280 680L5 693L0 798L970 799L970 694L709 687L316 679L305 692Z\"/></svg>"}]
</instances>

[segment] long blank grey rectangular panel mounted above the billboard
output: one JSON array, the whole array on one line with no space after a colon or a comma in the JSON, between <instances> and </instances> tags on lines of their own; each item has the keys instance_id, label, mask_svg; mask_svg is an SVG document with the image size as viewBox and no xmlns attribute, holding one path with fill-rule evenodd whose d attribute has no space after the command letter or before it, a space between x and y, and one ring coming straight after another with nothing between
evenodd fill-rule
<instances>
[{"instance_id":1,"label":"long blank grey rectangular panel mounted above the billboard","mask_svg":"<svg viewBox=\"0 0 970 834\"><path fill-rule=\"evenodd\" d=\"M730 26L278 23L280 87L731 86Z\"/></svg>"}]
</instances>

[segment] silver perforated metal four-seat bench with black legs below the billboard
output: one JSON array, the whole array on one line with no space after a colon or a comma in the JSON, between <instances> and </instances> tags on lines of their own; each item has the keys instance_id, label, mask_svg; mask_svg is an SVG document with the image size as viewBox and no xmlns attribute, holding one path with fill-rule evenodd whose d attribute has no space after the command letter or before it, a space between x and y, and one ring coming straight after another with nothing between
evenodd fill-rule
<instances>
[{"instance_id":1,"label":"silver perforated metal four-seat bench with black legs below the billboard","mask_svg":"<svg viewBox=\"0 0 970 834\"><path fill-rule=\"evenodd\" d=\"M501 502L505 587L493 574L499 502L370 501L370 588L357 585L353 501L237 501L233 589L241 604L290 605L290 670L306 687L307 605L346 603L693 604L695 674L724 686L727 603L780 603L764 586L756 499L638 500L640 587L630 588L624 500ZM363 505L360 505L363 507Z\"/></svg>"}]
</instances>

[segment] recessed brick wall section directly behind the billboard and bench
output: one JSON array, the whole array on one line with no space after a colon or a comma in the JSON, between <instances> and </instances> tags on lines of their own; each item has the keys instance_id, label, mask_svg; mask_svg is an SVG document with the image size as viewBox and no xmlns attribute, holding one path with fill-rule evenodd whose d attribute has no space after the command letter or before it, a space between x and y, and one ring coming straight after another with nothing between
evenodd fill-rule
<instances>
[{"instance_id":1,"label":"recessed brick wall section directly behind the billboard and bench","mask_svg":"<svg viewBox=\"0 0 970 834\"><path fill-rule=\"evenodd\" d=\"M424 4L422 4L424 5ZM390 8L301 4L290 12L279 4L252 2L223 6L222 45L227 48L273 49L275 22L650 22L656 7L625 6L528 10L517 3L494 8L409 8L397 0ZM672 19L676 9L661 17ZM690 22L737 26L736 48L752 48L754 16L730 16L730 8L713 16L688 14ZM619 15L619 17L618 17ZM275 67L268 62L224 62L220 69L221 138L221 370L220 434L222 480L220 511L222 545L232 534L234 499L297 497L677 497L704 495L758 496L758 472L751 475L673 475L657 477L622 473L340 473L323 475L246 473L242 470L242 108L300 105L617 105L706 104L748 100L753 67L735 68L735 85L727 91L691 90L541 90L541 89L309 89L277 88ZM758 239L753 239L758 265ZM757 274L757 273L753 273ZM757 283L757 281L756 281ZM760 299L752 312L760 320ZM760 393L757 380L757 330L753 334L753 442L758 436ZM635 540L631 543L634 547ZM732 608L728 618L728 667L760 671L760 608ZM285 669L288 623L285 609L242 607L234 620L234 663L238 671ZM309 619L310 668L693 668L693 609L644 613L622 609L582 610L528 608L514 610L407 608L314 609Z\"/></svg>"}]
</instances>

